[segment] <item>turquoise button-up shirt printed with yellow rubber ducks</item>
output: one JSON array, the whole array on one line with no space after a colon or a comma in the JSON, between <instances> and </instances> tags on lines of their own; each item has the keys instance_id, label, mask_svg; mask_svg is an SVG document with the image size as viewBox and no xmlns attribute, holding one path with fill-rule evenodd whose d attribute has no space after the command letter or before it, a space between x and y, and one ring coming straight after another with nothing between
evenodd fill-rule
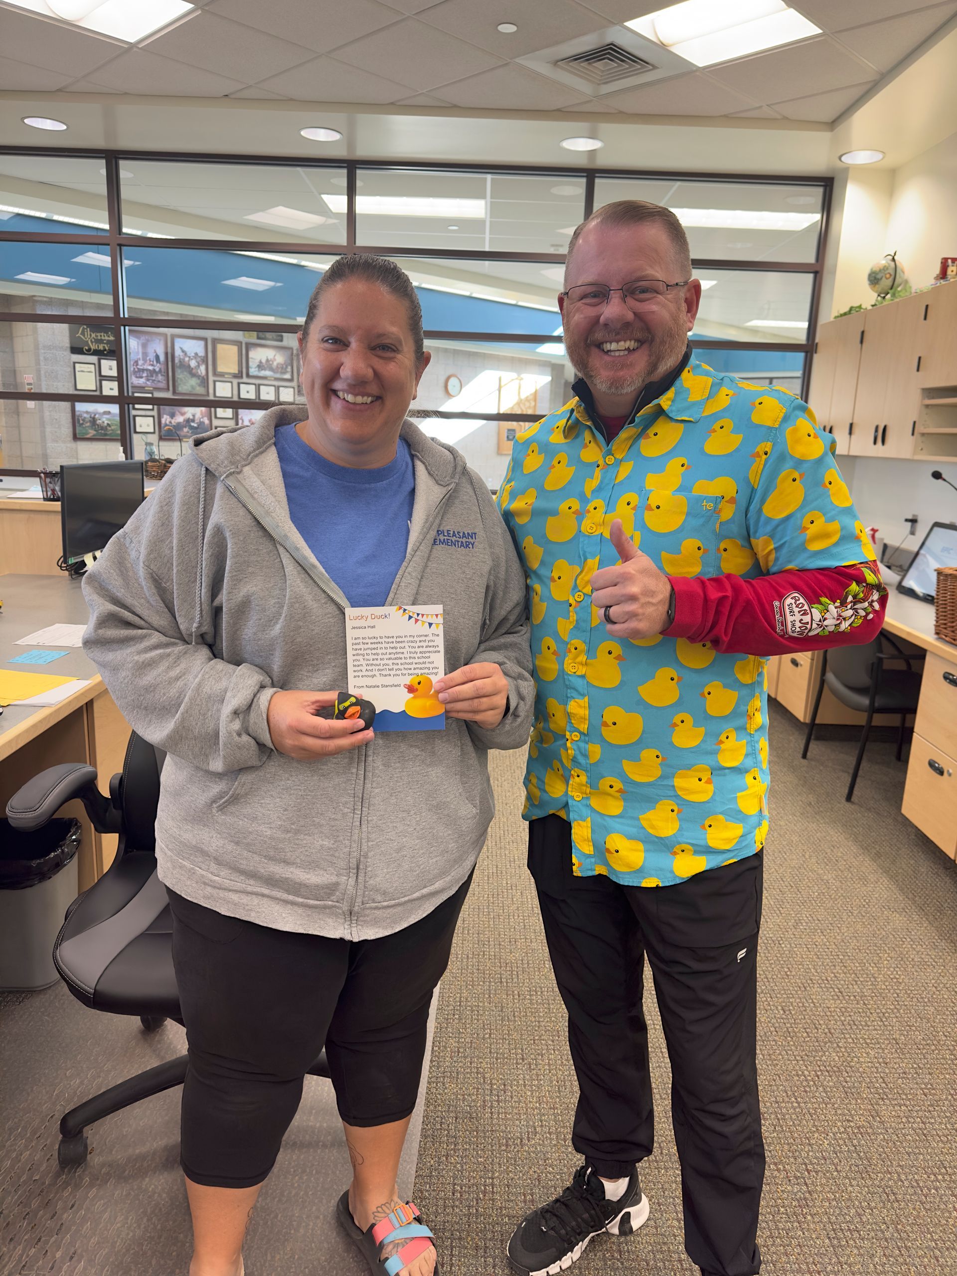
<instances>
[{"instance_id":1,"label":"turquoise button-up shirt printed with yellow rubber ducks","mask_svg":"<svg viewBox=\"0 0 957 1276\"><path fill-rule=\"evenodd\" d=\"M768 831L767 660L610 639L591 578L619 561L612 521L671 577L873 559L833 445L787 390L694 357L611 443L579 398L518 435L499 508L524 561L537 683L523 815L570 822L575 874L671 886L755 854Z\"/></svg>"}]
</instances>

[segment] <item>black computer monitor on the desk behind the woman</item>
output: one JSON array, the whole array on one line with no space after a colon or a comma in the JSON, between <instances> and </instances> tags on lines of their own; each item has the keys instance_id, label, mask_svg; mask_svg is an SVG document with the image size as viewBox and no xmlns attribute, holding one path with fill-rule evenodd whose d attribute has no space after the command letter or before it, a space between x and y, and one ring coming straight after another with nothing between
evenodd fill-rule
<instances>
[{"instance_id":1,"label":"black computer monitor on the desk behind the woman","mask_svg":"<svg viewBox=\"0 0 957 1276\"><path fill-rule=\"evenodd\" d=\"M106 549L110 537L143 504L142 461L92 461L60 466L64 567Z\"/></svg>"}]
</instances>

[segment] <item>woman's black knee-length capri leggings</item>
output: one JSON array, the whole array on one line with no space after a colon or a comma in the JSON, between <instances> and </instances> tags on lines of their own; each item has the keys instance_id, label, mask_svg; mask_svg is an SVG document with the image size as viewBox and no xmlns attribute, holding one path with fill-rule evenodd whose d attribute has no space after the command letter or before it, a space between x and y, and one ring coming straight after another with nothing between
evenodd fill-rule
<instances>
[{"instance_id":1,"label":"woman's black knee-length capri leggings","mask_svg":"<svg viewBox=\"0 0 957 1276\"><path fill-rule=\"evenodd\" d=\"M429 1005L471 882L404 930L356 943L272 930L168 891L189 1042L181 1142L189 1179L214 1188L262 1183L323 1046L348 1125L412 1113Z\"/></svg>"}]
</instances>

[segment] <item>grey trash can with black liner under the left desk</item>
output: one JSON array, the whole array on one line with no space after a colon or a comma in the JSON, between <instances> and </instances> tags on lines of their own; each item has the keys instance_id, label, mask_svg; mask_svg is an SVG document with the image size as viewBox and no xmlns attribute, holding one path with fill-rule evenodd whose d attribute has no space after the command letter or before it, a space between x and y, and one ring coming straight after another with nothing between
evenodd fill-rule
<instances>
[{"instance_id":1,"label":"grey trash can with black liner under the left desk","mask_svg":"<svg viewBox=\"0 0 957 1276\"><path fill-rule=\"evenodd\" d=\"M0 819L0 991L36 991L59 979L54 942L77 898L77 819L24 833Z\"/></svg>"}]
</instances>

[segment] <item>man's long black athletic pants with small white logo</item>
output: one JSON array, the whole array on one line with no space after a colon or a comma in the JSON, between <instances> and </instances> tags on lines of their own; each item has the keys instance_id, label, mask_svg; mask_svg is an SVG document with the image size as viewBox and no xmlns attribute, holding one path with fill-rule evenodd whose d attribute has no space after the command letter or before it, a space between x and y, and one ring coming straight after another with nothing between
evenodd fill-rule
<instances>
[{"instance_id":1,"label":"man's long black athletic pants with small white logo","mask_svg":"<svg viewBox=\"0 0 957 1276\"><path fill-rule=\"evenodd\" d=\"M644 954L671 1060L685 1248L706 1276L754 1276L764 1145L755 1067L762 856L670 887L572 874L567 820L528 828L528 868L579 1099L572 1142L605 1178L653 1146Z\"/></svg>"}]
</instances>

